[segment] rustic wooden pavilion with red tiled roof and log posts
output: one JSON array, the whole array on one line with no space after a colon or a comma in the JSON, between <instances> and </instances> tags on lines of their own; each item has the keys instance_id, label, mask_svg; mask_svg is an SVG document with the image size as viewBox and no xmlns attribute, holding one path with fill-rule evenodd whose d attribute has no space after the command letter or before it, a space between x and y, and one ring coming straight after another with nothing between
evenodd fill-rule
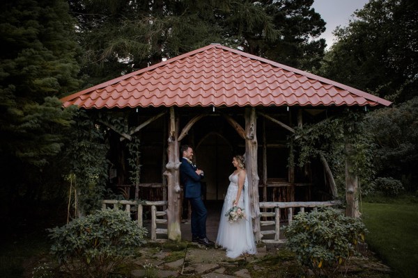
<instances>
[{"instance_id":1,"label":"rustic wooden pavilion with red tiled roof and log posts","mask_svg":"<svg viewBox=\"0 0 418 278\"><path fill-rule=\"evenodd\" d=\"M320 122L346 107L390 105L355 88L220 44L61 100L65 107L76 105L123 117L123 129L100 120L109 129L109 178L114 186L132 187L134 198L127 194L127 199L167 204L167 211L159 213L154 208L151 213L154 219L158 215L167 218L165 231L172 240L181 238L180 144L194 146L196 164L206 176L206 200L224 199L233 171L232 157L245 154L254 234L258 241L263 235L274 234L277 241L279 222L291 220L292 208L303 211L305 207L330 205L328 201L336 196L325 158L304 169L288 166L293 159L289 138L294 127ZM132 138L140 141L137 184L130 183L126 163L129 152L125 142ZM349 168L350 161L346 164ZM357 215L356 190L357 177L347 170L346 214L353 217ZM142 206L137 211L141 222ZM155 238L155 220L153 223ZM261 229L269 224L276 228Z\"/></svg>"}]
</instances>

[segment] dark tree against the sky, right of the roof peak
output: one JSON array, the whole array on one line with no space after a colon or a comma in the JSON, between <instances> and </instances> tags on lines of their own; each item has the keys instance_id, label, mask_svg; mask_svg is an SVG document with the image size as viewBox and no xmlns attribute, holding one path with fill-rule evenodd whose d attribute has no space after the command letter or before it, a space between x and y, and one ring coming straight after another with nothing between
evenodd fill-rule
<instances>
[{"instance_id":1,"label":"dark tree against the sky, right of the roof peak","mask_svg":"<svg viewBox=\"0 0 418 278\"><path fill-rule=\"evenodd\" d=\"M253 2L260 3L272 18L278 35L266 40L264 30L245 30L242 32L245 51L300 70L319 67L326 44L324 39L316 38L325 31L325 22L311 8L313 0Z\"/></svg>"}]
</instances>

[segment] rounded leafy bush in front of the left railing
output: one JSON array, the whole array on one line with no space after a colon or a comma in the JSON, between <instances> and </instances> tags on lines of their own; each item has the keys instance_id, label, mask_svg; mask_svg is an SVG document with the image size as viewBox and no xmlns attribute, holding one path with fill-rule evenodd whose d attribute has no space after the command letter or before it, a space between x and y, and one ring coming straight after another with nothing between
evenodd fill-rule
<instances>
[{"instance_id":1,"label":"rounded leafy bush in front of the left railing","mask_svg":"<svg viewBox=\"0 0 418 278\"><path fill-rule=\"evenodd\" d=\"M146 234L125 211L109 208L49 231L52 254L73 277L107 277Z\"/></svg>"}]
</instances>

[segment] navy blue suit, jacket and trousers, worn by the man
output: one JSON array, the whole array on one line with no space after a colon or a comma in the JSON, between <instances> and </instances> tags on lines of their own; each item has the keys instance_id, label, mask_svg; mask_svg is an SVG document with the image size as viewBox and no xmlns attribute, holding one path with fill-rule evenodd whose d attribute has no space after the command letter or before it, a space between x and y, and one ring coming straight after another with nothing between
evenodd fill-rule
<instances>
[{"instance_id":1,"label":"navy blue suit, jacket and trousers, worn by the man","mask_svg":"<svg viewBox=\"0 0 418 278\"><path fill-rule=\"evenodd\" d=\"M185 158L181 158L180 183L185 190L187 198L192 206L192 235L193 237L206 238L206 218L208 211L201 198L201 179L196 174L196 168Z\"/></svg>"}]
</instances>

